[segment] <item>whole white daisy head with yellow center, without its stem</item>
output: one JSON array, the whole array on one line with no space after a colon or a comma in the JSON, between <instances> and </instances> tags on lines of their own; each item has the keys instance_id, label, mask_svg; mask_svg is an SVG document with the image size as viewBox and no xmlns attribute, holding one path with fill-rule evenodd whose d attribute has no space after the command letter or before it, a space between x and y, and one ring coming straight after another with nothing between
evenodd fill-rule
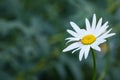
<instances>
[{"instance_id":1,"label":"whole white daisy head with yellow center, without its stem","mask_svg":"<svg viewBox=\"0 0 120 80\"><path fill-rule=\"evenodd\" d=\"M66 40L68 40L67 43L72 42L72 44L65 48L63 52L73 50L72 53L74 53L79 50L80 61L83 56L85 59L88 57L90 48L101 51L99 45L106 42L106 38L115 35L115 33L110 33L112 28L108 29L108 22L102 24L102 18L97 22L95 14L93 14L92 24L90 24L90 21L86 18L86 29L80 29L80 27L72 21L70 24L74 31L67 30L72 37L68 37Z\"/></svg>"}]
</instances>

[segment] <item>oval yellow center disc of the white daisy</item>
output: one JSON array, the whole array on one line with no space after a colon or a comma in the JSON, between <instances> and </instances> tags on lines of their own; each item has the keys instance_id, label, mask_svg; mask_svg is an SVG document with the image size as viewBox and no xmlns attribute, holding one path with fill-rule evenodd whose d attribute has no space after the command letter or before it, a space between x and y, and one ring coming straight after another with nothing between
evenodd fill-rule
<instances>
[{"instance_id":1,"label":"oval yellow center disc of the white daisy","mask_svg":"<svg viewBox=\"0 0 120 80\"><path fill-rule=\"evenodd\" d=\"M96 40L96 37L92 34L86 35L81 39L82 44L88 45L92 44Z\"/></svg>"}]
</instances>

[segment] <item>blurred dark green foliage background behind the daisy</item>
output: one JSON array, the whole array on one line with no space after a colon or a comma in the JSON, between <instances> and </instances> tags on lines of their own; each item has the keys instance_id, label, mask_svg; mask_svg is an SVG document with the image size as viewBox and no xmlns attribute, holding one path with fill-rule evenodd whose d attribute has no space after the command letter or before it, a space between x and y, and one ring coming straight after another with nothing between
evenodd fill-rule
<instances>
[{"instance_id":1,"label":"blurred dark green foliage background behind the daisy","mask_svg":"<svg viewBox=\"0 0 120 80\"><path fill-rule=\"evenodd\" d=\"M96 52L97 80L120 80L120 0L0 0L0 80L91 80L91 53L63 53L74 21L103 17L116 36Z\"/></svg>"}]
</instances>

